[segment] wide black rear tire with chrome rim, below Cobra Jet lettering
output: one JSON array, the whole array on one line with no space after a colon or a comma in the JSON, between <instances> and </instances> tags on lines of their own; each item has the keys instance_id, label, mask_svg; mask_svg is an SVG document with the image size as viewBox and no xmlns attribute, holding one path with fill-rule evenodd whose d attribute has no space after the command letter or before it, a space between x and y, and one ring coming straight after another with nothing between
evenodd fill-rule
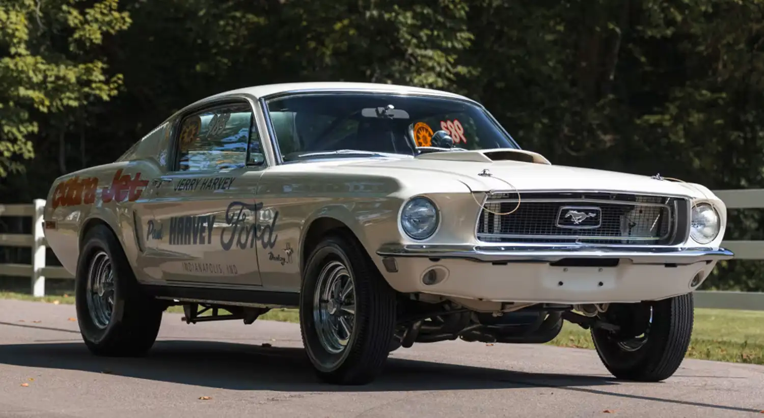
<instances>
[{"instance_id":1,"label":"wide black rear tire with chrome rim, below Cobra Jet lettering","mask_svg":"<svg viewBox=\"0 0 764 418\"><path fill-rule=\"evenodd\" d=\"M96 225L84 242L75 298L85 345L95 355L145 355L157 339L163 306L141 291L111 229Z\"/></svg>"}]
</instances>

